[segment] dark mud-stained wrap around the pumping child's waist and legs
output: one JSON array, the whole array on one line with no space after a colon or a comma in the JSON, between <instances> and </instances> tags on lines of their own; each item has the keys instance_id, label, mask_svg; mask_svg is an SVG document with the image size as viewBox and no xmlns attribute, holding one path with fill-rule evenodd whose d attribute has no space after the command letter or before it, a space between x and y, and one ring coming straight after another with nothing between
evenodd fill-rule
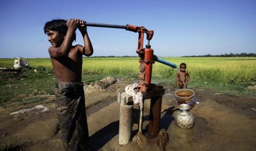
<instances>
[{"instance_id":1,"label":"dark mud-stained wrap around the pumping child's waist and legs","mask_svg":"<svg viewBox=\"0 0 256 151\"><path fill-rule=\"evenodd\" d=\"M83 83L58 82L56 110L65 150L86 150L89 143Z\"/></svg>"}]
</instances>

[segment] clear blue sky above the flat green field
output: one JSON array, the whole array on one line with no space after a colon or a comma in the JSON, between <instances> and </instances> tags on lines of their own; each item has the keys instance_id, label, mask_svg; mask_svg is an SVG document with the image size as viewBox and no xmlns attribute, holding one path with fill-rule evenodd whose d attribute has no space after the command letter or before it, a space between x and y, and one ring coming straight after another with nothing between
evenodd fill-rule
<instances>
[{"instance_id":1,"label":"clear blue sky above the flat green field","mask_svg":"<svg viewBox=\"0 0 256 151\"><path fill-rule=\"evenodd\" d=\"M49 57L45 22L70 18L154 30L157 56L256 53L255 0L1 0L0 16L0 57ZM101 27L88 33L92 56L137 56L138 33ZM83 44L79 31L73 44Z\"/></svg>"}]
</instances>

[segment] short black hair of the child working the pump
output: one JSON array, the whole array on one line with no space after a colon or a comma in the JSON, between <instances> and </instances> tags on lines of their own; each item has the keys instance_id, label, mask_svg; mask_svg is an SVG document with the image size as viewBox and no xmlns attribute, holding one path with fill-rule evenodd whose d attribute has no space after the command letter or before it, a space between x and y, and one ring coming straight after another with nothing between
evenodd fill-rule
<instances>
[{"instance_id":1,"label":"short black hair of the child working the pump","mask_svg":"<svg viewBox=\"0 0 256 151\"><path fill-rule=\"evenodd\" d=\"M43 27L43 31L45 32L45 34L47 33L48 30L51 31L58 31L59 34L63 34L66 35L67 31L68 31L68 26L66 25L67 20L63 20L63 19L55 19L52 21L48 21L45 24L45 27ZM75 38L75 32L74 32L74 40Z\"/></svg>"}]
</instances>

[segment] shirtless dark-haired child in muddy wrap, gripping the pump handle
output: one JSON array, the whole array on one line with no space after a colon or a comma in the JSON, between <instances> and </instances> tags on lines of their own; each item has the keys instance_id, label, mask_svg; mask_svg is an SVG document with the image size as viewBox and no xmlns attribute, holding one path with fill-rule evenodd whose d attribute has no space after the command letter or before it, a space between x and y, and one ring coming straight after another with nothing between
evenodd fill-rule
<instances>
[{"instance_id":1,"label":"shirtless dark-haired child in muddy wrap, gripping the pump handle","mask_svg":"<svg viewBox=\"0 0 256 151\"><path fill-rule=\"evenodd\" d=\"M55 104L65 150L86 150L89 143L81 73L83 55L91 56L93 48L84 23L80 19L52 20L43 27L52 45L48 53L57 77ZM77 28L84 46L72 45Z\"/></svg>"}]
</instances>

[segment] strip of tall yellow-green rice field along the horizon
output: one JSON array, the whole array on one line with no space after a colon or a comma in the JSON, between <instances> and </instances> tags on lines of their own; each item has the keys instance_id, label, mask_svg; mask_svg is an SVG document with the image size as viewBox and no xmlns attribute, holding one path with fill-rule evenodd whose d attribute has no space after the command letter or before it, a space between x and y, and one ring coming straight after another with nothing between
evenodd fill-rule
<instances>
[{"instance_id":1,"label":"strip of tall yellow-green rice field along the horizon","mask_svg":"<svg viewBox=\"0 0 256 151\"><path fill-rule=\"evenodd\" d=\"M176 63L184 62L191 80L216 80L225 82L240 78L249 80L256 76L256 57L162 57ZM50 59L28 59L30 67L43 66L52 68ZM13 68L14 59L0 59L1 68ZM83 72L92 74L129 75L139 73L139 58L137 57L85 57ZM172 78L176 69L155 62L152 76Z\"/></svg>"}]
</instances>

